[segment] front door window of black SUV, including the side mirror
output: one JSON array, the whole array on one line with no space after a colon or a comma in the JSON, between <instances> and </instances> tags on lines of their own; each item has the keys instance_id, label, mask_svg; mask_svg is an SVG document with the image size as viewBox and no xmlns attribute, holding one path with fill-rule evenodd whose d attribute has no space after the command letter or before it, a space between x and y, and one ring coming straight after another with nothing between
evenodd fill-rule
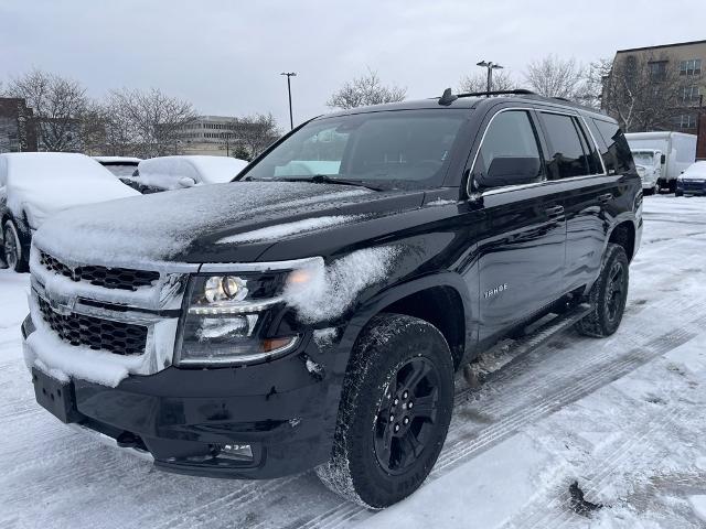
<instances>
[{"instance_id":1,"label":"front door window of black SUV, including the side mirror","mask_svg":"<svg viewBox=\"0 0 706 529\"><path fill-rule=\"evenodd\" d=\"M473 165L478 187L530 184L543 177L537 134L525 110L492 119Z\"/></svg>"}]
</instances>

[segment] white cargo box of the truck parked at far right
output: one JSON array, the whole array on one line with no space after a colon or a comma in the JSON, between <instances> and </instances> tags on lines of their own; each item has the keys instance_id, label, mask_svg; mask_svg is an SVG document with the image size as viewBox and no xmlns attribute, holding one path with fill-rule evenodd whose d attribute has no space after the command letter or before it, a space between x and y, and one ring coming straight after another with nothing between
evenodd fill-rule
<instances>
[{"instance_id":1,"label":"white cargo box of the truck parked at far right","mask_svg":"<svg viewBox=\"0 0 706 529\"><path fill-rule=\"evenodd\" d=\"M654 149L664 159L657 180L660 187L676 191L676 177L696 160L696 136L683 132L629 132L625 134L631 151Z\"/></svg>"}]
</instances>

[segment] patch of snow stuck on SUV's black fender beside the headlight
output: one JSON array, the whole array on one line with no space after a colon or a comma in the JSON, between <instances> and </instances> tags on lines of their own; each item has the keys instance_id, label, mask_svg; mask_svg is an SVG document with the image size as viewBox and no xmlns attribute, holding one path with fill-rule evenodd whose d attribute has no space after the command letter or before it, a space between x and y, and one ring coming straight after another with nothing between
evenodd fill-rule
<instances>
[{"instance_id":1,"label":"patch of snow stuck on SUV's black fender beside the headlight","mask_svg":"<svg viewBox=\"0 0 706 529\"><path fill-rule=\"evenodd\" d=\"M397 253L395 247L366 248L328 267L314 263L308 269L310 280L288 284L282 296L303 322L336 319L363 289L385 279Z\"/></svg>"}]
</instances>

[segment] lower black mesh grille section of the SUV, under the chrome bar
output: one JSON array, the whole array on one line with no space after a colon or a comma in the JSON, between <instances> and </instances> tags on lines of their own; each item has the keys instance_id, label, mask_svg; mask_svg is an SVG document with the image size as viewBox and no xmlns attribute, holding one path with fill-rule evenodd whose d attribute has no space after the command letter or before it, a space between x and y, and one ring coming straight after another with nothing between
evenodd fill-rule
<instances>
[{"instance_id":1,"label":"lower black mesh grille section of the SUV, under the chrome bar","mask_svg":"<svg viewBox=\"0 0 706 529\"><path fill-rule=\"evenodd\" d=\"M42 317L61 339L92 349L108 350L116 355L141 355L147 345L147 327L125 322L114 322L83 314L60 314L38 298Z\"/></svg>"}]
</instances>

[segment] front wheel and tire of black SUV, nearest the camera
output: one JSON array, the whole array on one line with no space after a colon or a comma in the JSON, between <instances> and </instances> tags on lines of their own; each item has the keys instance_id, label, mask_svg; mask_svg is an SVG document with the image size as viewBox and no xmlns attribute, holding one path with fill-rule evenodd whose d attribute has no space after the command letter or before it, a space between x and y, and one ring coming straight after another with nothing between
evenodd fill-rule
<instances>
[{"instance_id":1,"label":"front wheel and tire of black SUV, nearest the camera","mask_svg":"<svg viewBox=\"0 0 706 529\"><path fill-rule=\"evenodd\" d=\"M375 316L343 384L331 460L317 468L334 493L381 509L414 493L441 452L453 408L453 360L434 325Z\"/></svg>"}]
</instances>

